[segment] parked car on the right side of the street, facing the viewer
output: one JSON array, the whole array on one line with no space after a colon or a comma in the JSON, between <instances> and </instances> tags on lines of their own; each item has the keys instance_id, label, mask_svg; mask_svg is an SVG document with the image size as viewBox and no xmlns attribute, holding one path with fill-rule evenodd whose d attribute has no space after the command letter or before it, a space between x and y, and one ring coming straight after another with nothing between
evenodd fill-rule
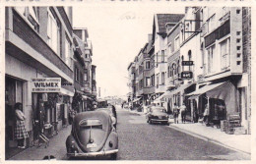
<instances>
[{"instance_id":1,"label":"parked car on the right side of the street, facing the viewer","mask_svg":"<svg viewBox=\"0 0 256 164\"><path fill-rule=\"evenodd\" d=\"M161 123L168 125L168 115L165 108L160 106L150 106L146 115L147 123Z\"/></svg>"}]
</instances>

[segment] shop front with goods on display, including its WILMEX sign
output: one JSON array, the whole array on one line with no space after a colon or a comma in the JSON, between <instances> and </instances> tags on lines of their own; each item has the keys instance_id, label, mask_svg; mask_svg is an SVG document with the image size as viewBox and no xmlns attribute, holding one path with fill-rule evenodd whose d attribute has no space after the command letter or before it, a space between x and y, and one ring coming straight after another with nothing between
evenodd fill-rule
<instances>
[{"instance_id":1,"label":"shop front with goods on display, including its WILMEX sign","mask_svg":"<svg viewBox=\"0 0 256 164\"><path fill-rule=\"evenodd\" d=\"M72 92L61 87L60 78L32 79L32 132L36 144L68 126Z\"/></svg>"}]
</instances>

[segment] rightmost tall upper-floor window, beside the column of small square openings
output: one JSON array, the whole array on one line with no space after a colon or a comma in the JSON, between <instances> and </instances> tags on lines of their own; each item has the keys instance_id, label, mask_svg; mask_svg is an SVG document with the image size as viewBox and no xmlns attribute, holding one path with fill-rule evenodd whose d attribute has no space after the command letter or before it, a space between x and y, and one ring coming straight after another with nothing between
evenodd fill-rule
<instances>
[{"instance_id":1,"label":"rightmost tall upper-floor window, beside the column of small square openings","mask_svg":"<svg viewBox=\"0 0 256 164\"><path fill-rule=\"evenodd\" d=\"M222 57L222 70L229 67L229 39L221 42L221 57Z\"/></svg>"}]
</instances>

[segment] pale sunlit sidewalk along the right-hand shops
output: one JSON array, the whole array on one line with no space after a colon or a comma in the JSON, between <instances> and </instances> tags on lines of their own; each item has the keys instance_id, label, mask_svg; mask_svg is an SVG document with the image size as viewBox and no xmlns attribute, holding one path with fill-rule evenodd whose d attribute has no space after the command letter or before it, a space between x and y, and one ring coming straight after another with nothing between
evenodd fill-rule
<instances>
[{"instance_id":1,"label":"pale sunlit sidewalk along the right-hand shops","mask_svg":"<svg viewBox=\"0 0 256 164\"><path fill-rule=\"evenodd\" d=\"M130 111L139 115L145 115L143 112ZM214 142L235 151L251 154L251 135L227 135L220 129L206 127L202 123L173 124L170 122L169 128L188 134L193 137L199 137L204 140Z\"/></svg>"}]
</instances>

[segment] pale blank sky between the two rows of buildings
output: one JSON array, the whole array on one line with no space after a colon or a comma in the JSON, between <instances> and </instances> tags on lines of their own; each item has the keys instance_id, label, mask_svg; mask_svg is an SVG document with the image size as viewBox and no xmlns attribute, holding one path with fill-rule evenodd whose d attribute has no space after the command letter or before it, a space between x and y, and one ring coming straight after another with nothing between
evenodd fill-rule
<instances>
[{"instance_id":1,"label":"pale blank sky between the two rows of buildings","mask_svg":"<svg viewBox=\"0 0 256 164\"><path fill-rule=\"evenodd\" d=\"M87 27L101 97L129 92L128 65L148 42L154 14L184 14L171 3L89 3L73 7L73 27Z\"/></svg>"}]
</instances>

